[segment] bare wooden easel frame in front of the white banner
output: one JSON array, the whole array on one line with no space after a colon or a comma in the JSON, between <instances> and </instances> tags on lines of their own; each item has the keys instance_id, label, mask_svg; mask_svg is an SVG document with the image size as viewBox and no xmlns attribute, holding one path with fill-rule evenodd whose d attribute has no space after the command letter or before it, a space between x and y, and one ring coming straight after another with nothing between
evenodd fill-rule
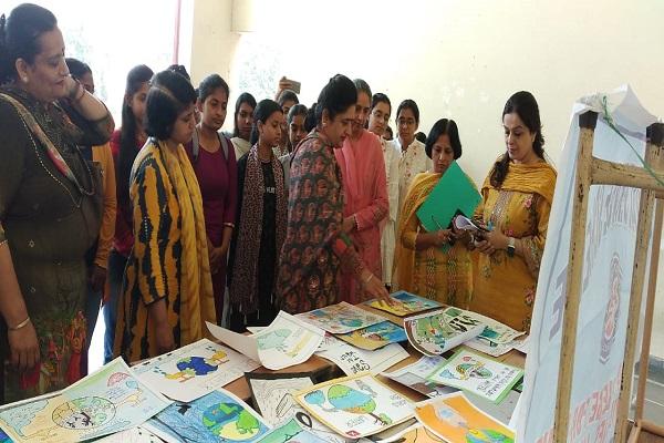
<instances>
[{"instance_id":1,"label":"bare wooden easel frame in front of the white banner","mask_svg":"<svg viewBox=\"0 0 664 443\"><path fill-rule=\"evenodd\" d=\"M641 351L641 367L639 379L635 426L632 430L630 442L635 442L641 429L664 436L664 427L645 422L643 403L645 380L647 378L647 357L650 353L650 337L652 331L656 275L658 265L660 241L662 235L662 213L664 205L664 186L645 168L623 165L596 158L592 155L594 128L598 113L585 112L579 115L579 154L577 158L577 173L574 185L574 204L572 210L572 236L570 239L570 255L567 271L567 298L562 323L562 347L560 351L560 372L558 375L558 394L556 400L556 416L553 424L553 441L568 442L570 420L570 403L572 394L572 377L574 371L574 351L577 348L577 328L579 322L579 305L581 301L581 284L583 270L583 251L585 249L585 226L588 219L589 193L592 185L618 185L641 188L641 205L636 225L636 245L634 254L634 270L630 306L627 312L627 334L625 339L625 356L622 370L622 384L619 398L615 442L624 442L629 425L629 406L632 375L634 372L635 347L639 334L641 305L645 281L647 250L651 244L651 231L655 198L657 202L657 217L653 236L653 250L650 271L650 285L646 301L646 317L644 323L644 339ZM653 167L655 174L664 176L664 124L655 123L647 128L647 144L645 159ZM646 339L647 338L647 339Z\"/></svg>"}]
</instances>

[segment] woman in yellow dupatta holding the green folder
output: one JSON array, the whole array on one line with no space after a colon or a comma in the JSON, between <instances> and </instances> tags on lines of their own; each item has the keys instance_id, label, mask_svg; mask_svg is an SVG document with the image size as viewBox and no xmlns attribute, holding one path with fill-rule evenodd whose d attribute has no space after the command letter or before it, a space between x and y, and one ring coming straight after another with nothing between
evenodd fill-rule
<instances>
[{"instance_id":1,"label":"woman in yellow dupatta holding the green folder","mask_svg":"<svg viewBox=\"0 0 664 443\"><path fill-rule=\"evenodd\" d=\"M415 176L402 208L393 285L398 289L463 309L468 307L473 289L473 264L466 238L450 229L427 233L417 218L417 209L427 199L452 162L461 156L461 143L453 120L437 121L427 137L426 154L433 173Z\"/></svg>"}]
</instances>

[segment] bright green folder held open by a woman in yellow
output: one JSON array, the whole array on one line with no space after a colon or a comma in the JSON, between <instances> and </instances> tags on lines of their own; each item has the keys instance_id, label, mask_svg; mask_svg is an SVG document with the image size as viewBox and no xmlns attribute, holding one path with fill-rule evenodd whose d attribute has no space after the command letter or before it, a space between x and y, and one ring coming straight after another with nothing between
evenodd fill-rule
<instances>
[{"instance_id":1,"label":"bright green folder held open by a woman in yellow","mask_svg":"<svg viewBox=\"0 0 664 443\"><path fill-rule=\"evenodd\" d=\"M417 218L428 233L447 229L452 218L459 213L468 218L473 217L479 202L481 195L475 184L453 162L417 209Z\"/></svg>"}]
</instances>

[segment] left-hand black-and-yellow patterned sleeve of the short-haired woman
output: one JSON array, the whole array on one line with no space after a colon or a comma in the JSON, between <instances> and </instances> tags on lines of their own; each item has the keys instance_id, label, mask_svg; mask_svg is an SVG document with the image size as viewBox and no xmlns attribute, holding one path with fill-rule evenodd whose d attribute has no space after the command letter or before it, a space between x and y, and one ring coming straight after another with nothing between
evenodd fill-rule
<instances>
[{"instance_id":1,"label":"left-hand black-and-yellow patterned sleeve of the short-haired woman","mask_svg":"<svg viewBox=\"0 0 664 443\"><path fill-rule=\"evenodd\" d=\"M136 171L132 183L131 197L134 218L134 257L138 262L138 288L145 305L167 297L165 274L166 253L169 244L169 223L173 218L162 214L167 212L168 197L164 190L164 175L154 158L146 159Z\"/></svg>"}]
</instances>

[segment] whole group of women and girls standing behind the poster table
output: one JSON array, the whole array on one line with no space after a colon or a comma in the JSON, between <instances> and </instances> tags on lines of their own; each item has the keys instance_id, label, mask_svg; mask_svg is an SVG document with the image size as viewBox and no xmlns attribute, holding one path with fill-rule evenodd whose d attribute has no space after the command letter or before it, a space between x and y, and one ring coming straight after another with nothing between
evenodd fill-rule
<instances>
[{"instance_id":1,"label":"whole group of women and girls standing behind the poster table","mask_svg":"<svg viewBox=\"0 0 664 443\"><path fill-rule=\"evenodd\" d=\"M181 66L127 75L118 130L87 65L64 59L55 17L0 19L0 401L86 372L100 305L105 359L155 357L404 289L528 330L556 172L535 97L502 111L506 152L479 188L470 237L426 231L417 209L461 156L453 120L415 138L419 110L335 75L307 107L239 95ZM7 346L6 346L7 344Z\"/></svg>"}]
</instances>

